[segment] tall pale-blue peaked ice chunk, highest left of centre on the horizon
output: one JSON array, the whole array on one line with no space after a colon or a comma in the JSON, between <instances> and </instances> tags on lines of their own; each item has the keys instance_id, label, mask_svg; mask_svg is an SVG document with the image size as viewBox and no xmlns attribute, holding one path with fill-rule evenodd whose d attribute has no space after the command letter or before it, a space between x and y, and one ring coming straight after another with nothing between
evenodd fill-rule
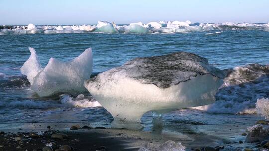
<instances>
[{"instance_id":1,"label":"tall pale-blue peaked ice chunk, highest left of centre on the horizon","mask_svg":"<svg viewBox=\"0 0 269 151\"><path fill-rule=\"evenodd\" d=\"M107 21L98 21L94 32L119 33L119 31L113 26L113 24Z\"/></svg>"}]
</instances>

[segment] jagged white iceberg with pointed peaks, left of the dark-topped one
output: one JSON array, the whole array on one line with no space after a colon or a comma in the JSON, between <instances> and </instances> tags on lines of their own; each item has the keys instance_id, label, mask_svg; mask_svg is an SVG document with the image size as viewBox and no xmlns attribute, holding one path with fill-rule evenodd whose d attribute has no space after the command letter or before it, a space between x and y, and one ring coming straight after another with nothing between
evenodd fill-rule
<instances>
[{"instance_id":1,"label":"jagged white iceberg with pointed peaks, left of the dark-topped one","mask_svg":"<svg viewBox=\"0 0 269 151\"><path fill-rule=\"evenodd\" d=\"M40 97L59 92L85 91L83 82L92 73L92 49L86 49L80 56L69 62L50 58L42 69L35 50L29 47L31 55L20 71L31 83L31 89Z\"/></svg>"}]
</instances>

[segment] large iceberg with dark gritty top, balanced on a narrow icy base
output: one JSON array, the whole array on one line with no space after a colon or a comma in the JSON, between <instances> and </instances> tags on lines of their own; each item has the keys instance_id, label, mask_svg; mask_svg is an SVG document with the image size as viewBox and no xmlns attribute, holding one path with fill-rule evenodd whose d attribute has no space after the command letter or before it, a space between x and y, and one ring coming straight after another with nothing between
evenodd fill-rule
<instances>
[{"instance_id":1,"label":"large iceberg with dark gritty top, balanced on a narrow icy base","mask_svg":"<svg viewBox=\"0 0 269 151\"><path fill-rule=\"evenodd\" d=\"M84 86L114 117L112 127L140 129L141 116L211 104L224 73L187 52L135 58Z\"/></svg>"}]
</instances>

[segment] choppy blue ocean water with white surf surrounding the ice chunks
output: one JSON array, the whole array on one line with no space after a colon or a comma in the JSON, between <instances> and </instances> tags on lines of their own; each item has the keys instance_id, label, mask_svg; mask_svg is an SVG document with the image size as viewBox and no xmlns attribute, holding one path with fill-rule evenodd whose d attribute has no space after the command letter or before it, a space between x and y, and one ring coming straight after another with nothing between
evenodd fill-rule
<instances>
[{"instance_id":1,"label":"choppy blue ocean water with white surf surrounding the ice chunks","mask_svg":"<svg viewBox=\"0 0 269 151\"><path fill-rule=\"evenodd\" d=\"M20 73L30 56L28 47L35 48L43 68L51 57L69 61L92 48L94 74L122 66L136 57L185 51L207 58L211 65L229 74L214 104L166 113L161 129L234 139L257 119L263 119L256 114L255 103L269 97L269 32L260 26L263 24L219 25L207 30L146 34L2 31L5 34L0 35L0 128L12 129L28 123L87 123L110 127L113 121L110 113L86 89L80 93L38 97L30 89L26 76ZM37 28L44 29L44 26ZM144 131L156 128L151 113L146 113L141 123ZM239 127L229 131L231 125ZM222 129L227 129L229 134L222 134Z\"/></svg>"}]
</instances>

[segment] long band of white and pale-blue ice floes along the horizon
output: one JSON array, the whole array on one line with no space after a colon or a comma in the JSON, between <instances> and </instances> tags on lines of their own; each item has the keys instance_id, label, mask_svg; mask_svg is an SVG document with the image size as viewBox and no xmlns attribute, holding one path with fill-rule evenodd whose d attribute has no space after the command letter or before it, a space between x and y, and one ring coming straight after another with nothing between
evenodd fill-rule
<instances>
[{"instance_id":1,"label":"long band of white and pale-blue ice floes along the horizon","mask_svg":"<svg viewBox=\"0 0 269 151\"><path fill-rule=\"evenodd\" d=\"M3 28L3 29L1 29ZM8 28L8 29L7 29ZM38 25L27 26L0 26L0 35L8 34L55 34L55 33L185 33L204 32L212 30L264 30L269 31L269 23L191 23L191 21L151 21L131 23L129 25L116 25L108 21L98 21L97 25Z\"/></svg>"}]
</instances>

